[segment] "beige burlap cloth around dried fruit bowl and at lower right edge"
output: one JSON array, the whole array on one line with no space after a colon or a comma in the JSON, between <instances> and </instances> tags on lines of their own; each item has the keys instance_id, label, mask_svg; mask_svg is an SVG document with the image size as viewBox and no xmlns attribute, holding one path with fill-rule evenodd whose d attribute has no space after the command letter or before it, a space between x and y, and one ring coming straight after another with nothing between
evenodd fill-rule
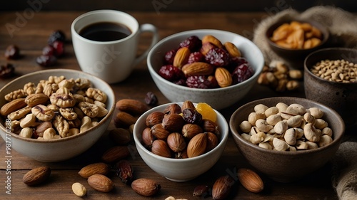
<instances>
[{"instance_id":1,"label":"beige burlap cloth around dried fruit bowl and at lower right edge","mask_svg":"<svg viewBox=\"0 0 357 200\"><path fill-rule=\"evenodd\" d=\"M315 6L303 12L287 9L263 19L254 29L253 42L263 52L267 64L288 60L276 55L268 46L265 33L271 24L281 19L312 19L322 23L331 34L330 46L357 48L357 15L332 6ZM354 133L356 135L356 133ZM341 200L357 199L357 137L345 135L332 162L332 185Z\"/></svg>"}]
</instances>

